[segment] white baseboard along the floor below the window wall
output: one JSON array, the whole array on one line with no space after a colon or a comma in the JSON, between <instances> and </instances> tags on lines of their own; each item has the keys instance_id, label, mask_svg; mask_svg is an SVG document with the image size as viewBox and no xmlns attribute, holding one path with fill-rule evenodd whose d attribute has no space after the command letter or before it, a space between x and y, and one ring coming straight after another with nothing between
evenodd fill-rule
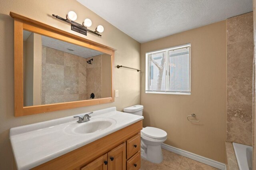
<instances>
[{"instance_id":1,"label":"white baseboard along the floor below the window wall","mask_svg":"<svg viewBox=\"0 0 256 170\"><path fill-rule=\"evenodd\" d=\"M179 155L182 155L182 156L185 156L187 158L190 158L190 159L193 159L193 160L196 160L198 162L202 162L204 164L207 164L209 166L212 166L214 168L218 168L220 170L226 170L226 164L223 164L221 162L218 162L216 160L212 160L212 159L209 159L209 158L206 158L206 157L203 157L203 156L200 156L200 155L197 155L197 154L193 154L191 152L188 152L186 150L182 150L182 149L179 149L179 148L175 148L173 146L170 146L168 144L162 144L161 145L163 149L165 150L169 150L171 152L174 152L176 154L179 154Z\"/></svg>"}]
</instances>

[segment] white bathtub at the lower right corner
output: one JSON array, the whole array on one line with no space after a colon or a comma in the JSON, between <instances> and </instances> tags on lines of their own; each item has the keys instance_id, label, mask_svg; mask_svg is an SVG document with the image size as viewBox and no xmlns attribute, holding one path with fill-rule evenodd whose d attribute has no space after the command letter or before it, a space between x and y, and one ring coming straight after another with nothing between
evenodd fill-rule
<instances>
[{"instance_id":1,"label":"white bathtub at the lower right corner","mask_svg":"<svg viewBox=\"0 0 256 170\"><path fill-rule=\"evenodd\" d=\"M233 147L240 170L252 170L252 146L234 143Z\"/></svg>"}]
</instances>

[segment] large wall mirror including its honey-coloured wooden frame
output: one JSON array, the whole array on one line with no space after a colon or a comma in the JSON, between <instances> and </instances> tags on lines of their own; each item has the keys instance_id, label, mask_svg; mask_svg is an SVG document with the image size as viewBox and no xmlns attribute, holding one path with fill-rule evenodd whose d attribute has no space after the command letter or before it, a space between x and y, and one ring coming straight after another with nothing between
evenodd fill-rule
<instances>
[{"instance_id":1,"label":"large wall mirror including its honey-coloured wooden frame","mask_svg":"<svg viewBox=\"0 0 256 170\"><path fill-rule=\"evenodd\" d=\"M114 51L10 12L15 117L114 102Z\"/></svg>"}]
</instances>

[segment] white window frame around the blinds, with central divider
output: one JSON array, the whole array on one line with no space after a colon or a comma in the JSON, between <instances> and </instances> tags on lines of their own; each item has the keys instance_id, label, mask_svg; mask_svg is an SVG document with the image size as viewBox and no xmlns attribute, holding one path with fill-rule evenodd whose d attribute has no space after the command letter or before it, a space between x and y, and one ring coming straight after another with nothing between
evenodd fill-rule
<instances>
[{"instance_id":1,"label":"white window frame around the blinds, with central divider","mask_svg":"<svg viewBox=\"0 0 256 170\"><path fill-rule=\"evenodd\" d=\"M165 83L165 91L149 91L149 90L147 90L147 88L149 87L148 83L150 81L150 79L149 79L150 66L148 66L148 62L149 62L148 61L148 54L160 53L160 52L165 52L166 53L166 52L171 51L171 50L185 48L185 47L189 47L190 48L190 51L189 51L189 92L175 92L175 91L167 91L166 90L166 89L169 89L169 78L170 78L170 70L169 70L169 66L168 66L169 65L169 57L168 57L168 55L165 56L166 57L166 62L165 62L166 73L169 73L169 74L165 75L165 79L166 79L165 82L168 82L168 83ZM145 55L146 55L145 93L173 94L173 95L191 95L191 43L186 43L186 44L183 44L183 45L177 45L177 46L174 46L174 47L168 47L168 48L165 48L165 49L149 51L149 52L146 52Z\"/></svg>"}]
</instances>

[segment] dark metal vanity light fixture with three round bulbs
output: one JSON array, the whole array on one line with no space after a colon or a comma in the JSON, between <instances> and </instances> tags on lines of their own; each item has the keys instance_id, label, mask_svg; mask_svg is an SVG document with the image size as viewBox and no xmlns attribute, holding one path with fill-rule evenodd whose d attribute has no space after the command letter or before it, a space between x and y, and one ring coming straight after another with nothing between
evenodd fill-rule
<instances>
[{"instance_id":1,"label":"dark metal vanity light fixture with three round bulbs","mask_svg":"<svg viewBox=\"0 0 256 170\"><path fill-rule=\"evenodd\" d=\"M77 22L74 22L77 19L76 12L74 11L68 12L68 14L66 14L66 19L54 14L52 14L52 16L59 20L67 22L68 24L71 24L71 30L78 32L80 34L84 34L85 36L87 36L87 32L90 32L101 37L99 33L102 33L104 31L104 27L102 25L97 26L95 28L95 31L89 30L87 27L92 26L92 21L89 18L86 18L82 25L78 24Z\"/></svg>"}]
</instances>

